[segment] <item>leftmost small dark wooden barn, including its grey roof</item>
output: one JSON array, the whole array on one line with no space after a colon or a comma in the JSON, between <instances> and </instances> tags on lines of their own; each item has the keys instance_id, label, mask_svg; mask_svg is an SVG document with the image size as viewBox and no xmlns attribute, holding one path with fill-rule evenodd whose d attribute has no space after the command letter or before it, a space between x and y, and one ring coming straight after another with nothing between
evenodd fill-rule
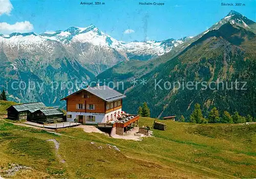
<instances>
[{"instance_id":1,"label":"leftmost small dark wooden barn, including its grey roof","mask_svg":"<svg viewBox=\"0 0 256 179\"><path fill-rule=\"evenodd\" d=\"M44 103L25 103L20 105L12 105L7 108L7 115L12 120L31 120L32 113L38 109L46 108Z\"/></svg>"}]
</instances>

